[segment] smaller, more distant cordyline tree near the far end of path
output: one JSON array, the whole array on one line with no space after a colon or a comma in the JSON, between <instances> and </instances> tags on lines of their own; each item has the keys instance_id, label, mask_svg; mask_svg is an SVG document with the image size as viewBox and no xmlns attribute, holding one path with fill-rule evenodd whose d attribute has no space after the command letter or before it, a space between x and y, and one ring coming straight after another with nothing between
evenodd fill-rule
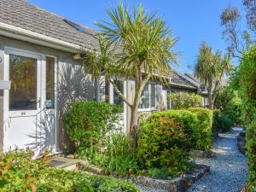
<instances>
[{"instance_id":1,"label":"smaller, more distant cordyline tree near the far end of path","mask_svg":"<svg viewBox=\"0 0 256 192\"><path fill-rule=\"evenodd\" d=\"M201 44L199 54L195 63L195 77L200 79L208 91L209 108L213 109L214 101L224 75L231 70L229 55L221 55L217 50L212 52L212 48L205 42Z\"/></svg>"}]
</instances>

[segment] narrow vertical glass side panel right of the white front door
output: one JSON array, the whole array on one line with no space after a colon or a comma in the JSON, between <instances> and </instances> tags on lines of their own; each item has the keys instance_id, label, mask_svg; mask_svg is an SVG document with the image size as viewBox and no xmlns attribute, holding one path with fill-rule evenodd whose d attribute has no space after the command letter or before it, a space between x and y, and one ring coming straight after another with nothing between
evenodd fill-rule
<instances>
[{"instance_id":1,"label":"narrow vertical glass side panel right of the white front door","mask_svg":"<svg viewBox=\"0 0 256 192\"><path fill-rule=\"evenodd\" d=\"M46 57L46 102L45 108L55 108L55 59Z\"/></svg>"}]
</instances>

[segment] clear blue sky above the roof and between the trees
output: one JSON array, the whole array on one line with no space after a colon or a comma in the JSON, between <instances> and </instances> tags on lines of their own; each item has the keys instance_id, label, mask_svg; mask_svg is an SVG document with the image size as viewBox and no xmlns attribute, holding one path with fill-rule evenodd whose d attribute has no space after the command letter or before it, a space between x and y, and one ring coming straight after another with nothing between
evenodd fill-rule
<instances>
[{"instance_id":1,"label":"clear blue sky above the roof and between the trees","mask_svg":"<svg viewBox=\"0 0 256 192\"><path fill-rule=\"evenodd\" d=\"M28 0L69 20L94 27L99 20L108 20L105 9L115 7L119 0ZM191 73L201 41L206 41L213 49L224 51L220 15L228 5L241 8L241 0L124 0L129 8L143 3L150 13L161 15L172 33L179 39L175 50L179 52L177 70Z\"/></svg>"}]
</instances>

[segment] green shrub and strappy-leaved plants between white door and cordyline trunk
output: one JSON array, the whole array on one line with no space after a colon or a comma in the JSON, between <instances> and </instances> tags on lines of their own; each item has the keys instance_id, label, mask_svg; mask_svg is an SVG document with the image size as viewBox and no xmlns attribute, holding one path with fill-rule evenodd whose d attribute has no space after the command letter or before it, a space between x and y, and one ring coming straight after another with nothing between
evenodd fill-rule
<instances>
[{"instance_id":1,"label":"green shrub and strappy-leaved plants between white door and cordyline trunk","mask_svg":"<svg viewBox=\"0 0 256 192\"><path fill-rule=\"evenodd\" d=\"M111 174L126 175L137 168L137 161L128 138L116 127L119 110L106 102L74 102L67 108L65 122L81 158Z\"/></svg>"}]
</instances>

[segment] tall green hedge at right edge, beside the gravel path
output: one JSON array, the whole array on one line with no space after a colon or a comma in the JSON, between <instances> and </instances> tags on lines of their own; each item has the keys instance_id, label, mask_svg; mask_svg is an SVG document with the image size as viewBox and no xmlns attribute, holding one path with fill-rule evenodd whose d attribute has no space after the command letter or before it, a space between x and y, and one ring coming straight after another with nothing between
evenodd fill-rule
<instances>
[{"instance_id":1,"label":"tall green hedge at right edge, beside the gravel path","mask_svg":"<svg viewBox=\"0 0 256 192\"><path fill-rule=\"evenodd\" d=\"M247 128L247 157L249 161L249 191L256 191L256 47L242 55L238 68L239 93L243 102L243 116Z\"/></svg>"}]
</instances>

